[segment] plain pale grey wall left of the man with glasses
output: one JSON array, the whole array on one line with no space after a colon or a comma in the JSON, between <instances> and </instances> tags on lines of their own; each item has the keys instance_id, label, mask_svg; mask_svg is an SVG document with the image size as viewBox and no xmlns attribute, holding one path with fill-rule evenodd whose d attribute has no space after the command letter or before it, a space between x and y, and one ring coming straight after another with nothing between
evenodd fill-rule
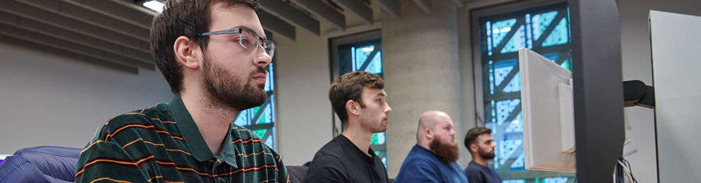
<instances>
[{"instance_id":1,"label":"plain pale grey wall left of the man with glasses","mask_svg":"<svg viewBox=\"0 0 701 183\"><path fill-rule=\"evenodd\" d=\"M123 73L1 44L0 55L0 154L83 148L111 117L173 96L159 71Z\"/></svg>"}]
</instances>

